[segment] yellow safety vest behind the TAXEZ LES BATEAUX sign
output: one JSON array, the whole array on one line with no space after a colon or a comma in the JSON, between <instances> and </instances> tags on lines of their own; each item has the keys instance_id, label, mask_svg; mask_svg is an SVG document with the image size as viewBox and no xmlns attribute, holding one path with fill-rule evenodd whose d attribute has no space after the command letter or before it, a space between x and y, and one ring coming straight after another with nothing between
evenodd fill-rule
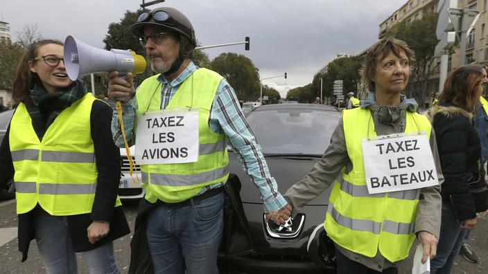
<instances>
[{"instance_id":1,"label":"yellow safety vest behind the TAXEZ LES BATEAUX sign","mask_svg":"<svg viewBox=\"0 0 488 274\"><path fill-rule=\"evenodd\" d=\"M342 169L334 183L324 227L327 235L347 250L367 257L376 256L379 250L390 262L397 262L408 257L415 239L420 189L368 193L361 139L376 136L371 115L369 109L360 108L343 112L347 154L353 170L346 174ZM430 129L425 116L407 112L405 132L420 130L430 136Z\"/></svg>"}]
</instances>

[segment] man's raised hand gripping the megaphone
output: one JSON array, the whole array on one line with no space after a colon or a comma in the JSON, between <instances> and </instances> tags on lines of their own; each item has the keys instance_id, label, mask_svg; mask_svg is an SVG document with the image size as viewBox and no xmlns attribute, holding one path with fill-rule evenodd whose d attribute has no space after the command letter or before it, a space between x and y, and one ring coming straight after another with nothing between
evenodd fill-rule
<instances>
[{"instance_id":1,"label":"man's raised hand gripping the megaphone","mask_svg":"<svg viewBox=\"0 0 488 274\"><path fill-rule=\"evenodd\" d=\"M108 98L128 102L134 96L134 82L132 82L132 73L127 73L125 77L119 77L118 71L107 73L109 79L107 95Z\"/></svg>"}]
</instances>

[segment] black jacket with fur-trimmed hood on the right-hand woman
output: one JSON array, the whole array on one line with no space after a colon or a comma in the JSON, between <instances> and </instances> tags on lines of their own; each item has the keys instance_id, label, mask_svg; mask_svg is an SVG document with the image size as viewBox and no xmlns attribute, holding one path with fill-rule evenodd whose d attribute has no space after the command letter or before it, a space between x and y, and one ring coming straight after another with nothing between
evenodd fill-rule
<instances>
[{"instance_id":1,"label":"black jacket with fur-trimmed hood on the right-hand woman","mask_svg":"<svg viewBox=\"0 0 488 274\"><path fill-rule=\"evenodd\" d=\"M430 116L444 174L442 199L452 203L458 221L473 219L476 208L467 181L479 172L481 153L473 114L452 104L443 104L433 107Z\"/></svg>"}]
</instances>

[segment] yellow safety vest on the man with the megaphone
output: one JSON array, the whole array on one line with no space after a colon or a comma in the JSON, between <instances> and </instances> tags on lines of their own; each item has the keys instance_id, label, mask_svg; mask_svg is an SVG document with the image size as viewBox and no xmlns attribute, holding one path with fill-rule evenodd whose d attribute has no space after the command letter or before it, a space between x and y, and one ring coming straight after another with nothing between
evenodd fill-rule
<instances>
[{"instance_id":1,"label":"yellow safety vest on the man with the megaphone","mask_svg":"<svg viewBox=\"0 0 488 274\"><path fill-rule=\"evenodd\" d=\"M142 82L136 93L137 116L161 109L161 84L154 75ZM209 69L198 69L181 84L166 109L198 109L199 155L195 163L141 165L146 200L177 203L194 197L207 185L227 181L229 157L225 135L209 127L212 103L222 76ZM137 127L136 127L137 128ZM137 144L136 144L137 145Z\"/></svg>"}]
</instances>

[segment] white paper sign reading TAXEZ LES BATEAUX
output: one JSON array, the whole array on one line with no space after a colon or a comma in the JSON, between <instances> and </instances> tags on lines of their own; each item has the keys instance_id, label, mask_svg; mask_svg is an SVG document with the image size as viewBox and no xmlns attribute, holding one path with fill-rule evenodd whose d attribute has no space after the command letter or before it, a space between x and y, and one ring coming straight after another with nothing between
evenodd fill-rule
<instances>
[{"instance_id":1,"label":"white paper sign reading TAXEZ LES BATEAUX","mask_svg":"<svg viewBox=\"0 0 488 274\"><path fill-rule=\"evenodd\" d=\"M369 194L438 185L426 134L395 134L361 141Z\"/></svg>"}]
</instances>

